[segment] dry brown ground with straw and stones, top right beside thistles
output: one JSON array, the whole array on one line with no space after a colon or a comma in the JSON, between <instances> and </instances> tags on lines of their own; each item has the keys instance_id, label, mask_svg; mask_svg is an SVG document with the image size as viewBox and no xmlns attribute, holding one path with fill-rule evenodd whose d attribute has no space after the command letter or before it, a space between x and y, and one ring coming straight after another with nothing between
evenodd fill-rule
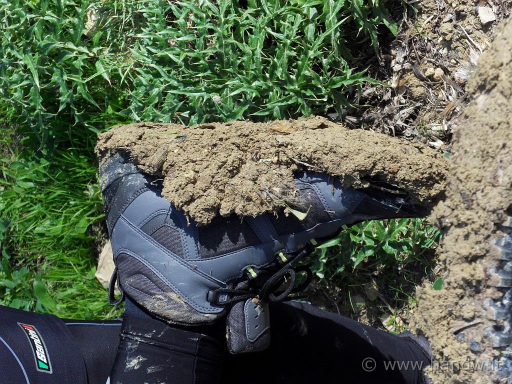
<instances>
[{"instance_id":1,"label":"dry brown ground with straw and stones, top right beside thistles","mask_svg":"<svg viewBox=\"0 0 512 384\"><path fill-rule=\"evenodd\" d=\"M349 127L363 125L450 152L452 135L468 102L467 80L512 4L502 0L408 3L407 11L399 8L403 11L399 33L382 43L379 60L360 62L391 89L369 85L360 96L354 93L352 102L370 107L347 109L339 118Z\"/></svg>"}]
</instances>

